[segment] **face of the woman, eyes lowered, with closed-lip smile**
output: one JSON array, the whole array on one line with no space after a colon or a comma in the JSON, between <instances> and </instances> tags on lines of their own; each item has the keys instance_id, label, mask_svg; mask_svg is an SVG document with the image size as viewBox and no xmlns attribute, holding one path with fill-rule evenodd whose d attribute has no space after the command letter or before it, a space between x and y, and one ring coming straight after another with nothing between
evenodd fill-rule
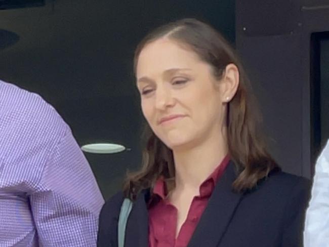
<instances>
[{"instance_id":1,"label":"face of the woman, eyes lowered, with closed-lip smile","mask_svg":"<svg viewBox=\"0 0 329 247\"><path fill-rule=\"evenodd\" d=\"M208 63L168 38L146 45L136 70L143 114L169 148L193 147L223 126L221 81Z\"/></svg>"}]
</instances>

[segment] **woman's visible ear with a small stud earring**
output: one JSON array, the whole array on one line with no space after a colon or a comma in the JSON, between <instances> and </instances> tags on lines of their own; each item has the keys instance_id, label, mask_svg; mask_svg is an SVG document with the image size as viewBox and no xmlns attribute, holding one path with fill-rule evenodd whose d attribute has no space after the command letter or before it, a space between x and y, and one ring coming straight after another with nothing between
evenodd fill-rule
<instances>
[{"instance_id":1,"label":"woman's visible ear with a small stud earring","mask_svg":"<svg viewBox=\"0 0 329 247\"><path fill-rule=\"evenodd\" d=\"M230 102L239 86L239 69L233 63L226 66L222 77L222 102Z\"/></svg>"}]
</instances>

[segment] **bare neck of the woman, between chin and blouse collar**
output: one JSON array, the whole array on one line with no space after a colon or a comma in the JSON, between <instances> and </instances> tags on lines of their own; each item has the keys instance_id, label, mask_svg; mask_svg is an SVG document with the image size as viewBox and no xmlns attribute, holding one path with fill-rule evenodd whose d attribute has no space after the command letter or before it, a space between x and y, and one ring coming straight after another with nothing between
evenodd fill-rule
<instances>
[{"instance_id":1,"label":"bare neck of the woman, between chin and blouse collar","mask_svg":"<svg viewBox=\"0 0 329 247\"><path fill-rule=\"evenodd\" d=\"M211 135L192 148L173 149L176 188L198 191L200 184L214 172L227 153L226 132Z\"/></svg>"}]
</instances>

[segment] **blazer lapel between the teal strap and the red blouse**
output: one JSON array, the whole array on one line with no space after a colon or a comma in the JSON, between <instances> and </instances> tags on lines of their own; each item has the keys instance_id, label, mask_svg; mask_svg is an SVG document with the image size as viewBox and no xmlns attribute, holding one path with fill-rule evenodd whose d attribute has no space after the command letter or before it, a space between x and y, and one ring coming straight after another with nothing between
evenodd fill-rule
<instances>
[{"instance_id":1,"label":"blazer lapel between the teal strap and the red blouse","mask_svg":"<svg viewBox=\"0 0 329 247\"><path fill-rule=\"evenodd\" d=\"M127 222L125 247L148 246L148 194L147 190L142 191L134 202Z\"/></svg>"}]
</instances>

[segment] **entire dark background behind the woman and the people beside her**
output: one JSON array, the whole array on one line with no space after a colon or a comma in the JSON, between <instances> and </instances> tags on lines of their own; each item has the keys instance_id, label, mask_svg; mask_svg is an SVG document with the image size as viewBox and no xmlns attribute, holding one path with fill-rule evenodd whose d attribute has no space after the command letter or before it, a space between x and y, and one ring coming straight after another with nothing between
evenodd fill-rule
<instances>
[{"instance_id":1,"label":"entire dark background behind the woman and the people beside her","mask_svg":"<svg viewBox=\"0 0 329 247\"><path fill-rule=\"evenodd\" d=\"M148 30L185 17L212 24L236 46L271 153L284 171L310 178L329 137L329 1L0 0L0 78L54 105L79 145L131 149L86 153L108 198L141 159L135 47Z\"/></svg>"}]
</instances>

